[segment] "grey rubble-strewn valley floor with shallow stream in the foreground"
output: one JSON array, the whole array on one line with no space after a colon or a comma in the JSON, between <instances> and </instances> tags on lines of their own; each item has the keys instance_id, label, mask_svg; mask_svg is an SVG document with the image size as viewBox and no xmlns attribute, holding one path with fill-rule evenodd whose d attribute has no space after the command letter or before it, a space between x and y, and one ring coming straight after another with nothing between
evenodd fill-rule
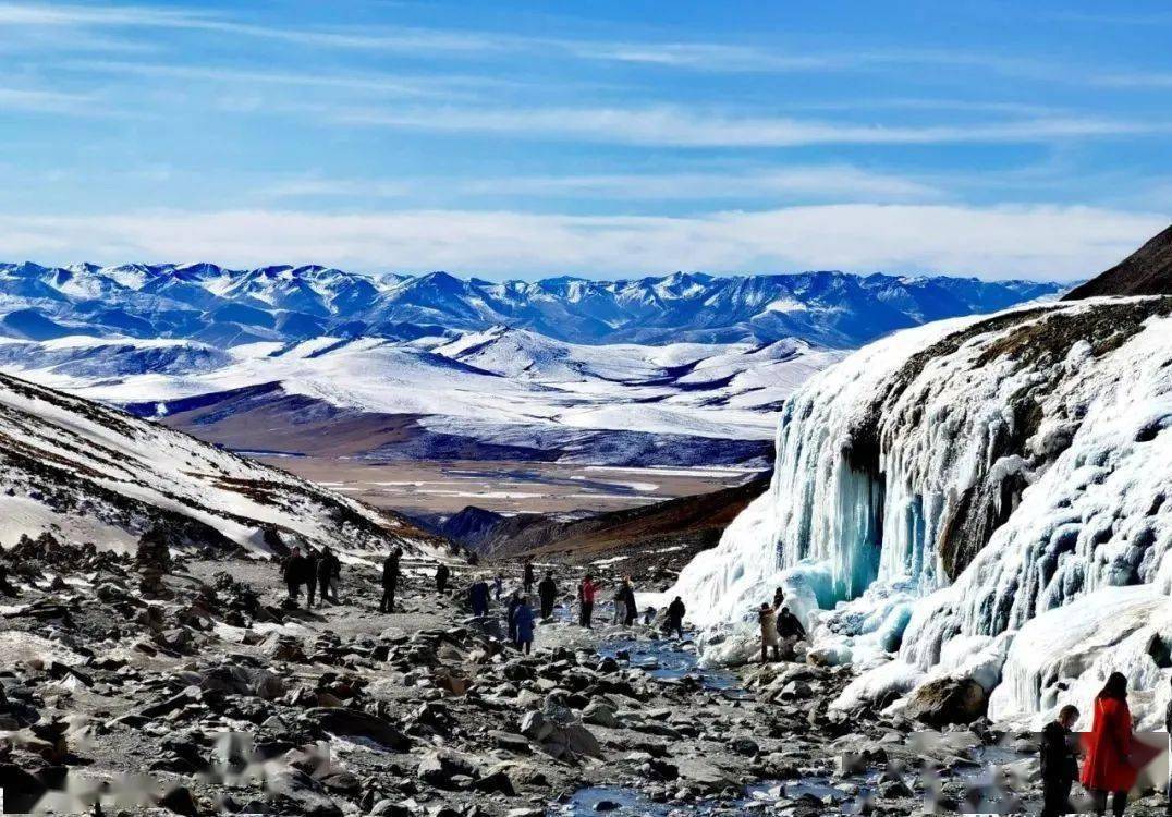
<instances>
[{"instance_id":1,"label":"grey rubble-strewn valley floor with shallow stream in the foreground","mask_svg":"<svg viewBox=\"0 0 1172 817\"><path fill-rule=\"evenodd\" d=\"M845 668L688 672L690 644L584 631L568 598L523 656L421 563L381 614L375 556L347 554L341 604L313 610L282 605L264 560L162 567L48 539L6 560L7 811L909 815L962 809L990 762L1023 791L1036 767L1033 738L987 723L830 710ZM476 569L454 567L462 588ZM558 572L570 591L577 570Z\"/></svg>"}]
</instances>

